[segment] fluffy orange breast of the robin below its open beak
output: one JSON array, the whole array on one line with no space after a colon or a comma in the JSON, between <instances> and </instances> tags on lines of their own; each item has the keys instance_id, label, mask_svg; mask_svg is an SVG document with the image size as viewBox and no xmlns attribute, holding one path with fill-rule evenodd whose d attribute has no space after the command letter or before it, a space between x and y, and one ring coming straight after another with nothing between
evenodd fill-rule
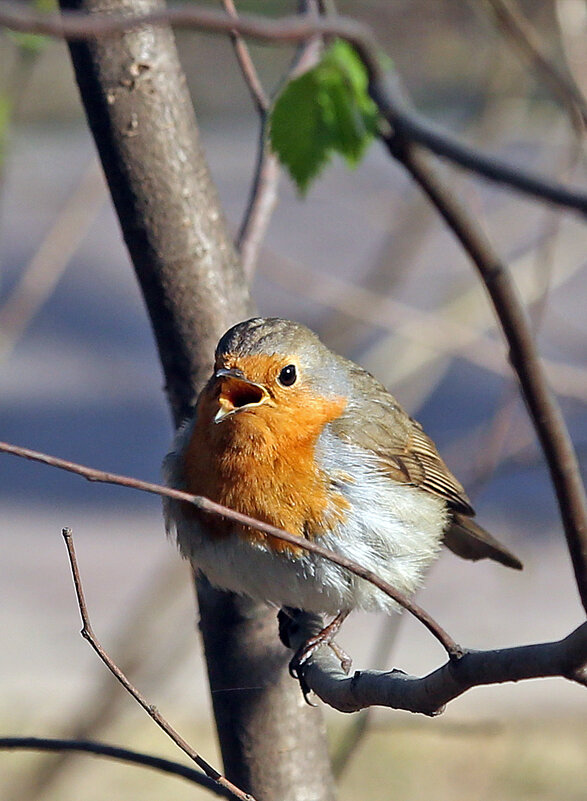
<instances>
[{"instance_id":1,"label":"fluffy orange breast of the robin below its open beak","mask_svg":"<svg viewBox=\"0 0 587 801\"><path fill-rule=\"evenodd\" d=\"M348 509L346 499L330 489L328 477L315 462L321 431L345 406L344 398L314 398L298 391L276 405L244 409L216 424L218 402L211 388L205 390L184 450L187 491L293 534L316 536L343 519ZM197 514L189 508L189 513ZM214 537L235 528L210 518L206 526ZM249 527L237 530L275 551L300 550Z\"/></svg>"}]
</instances>

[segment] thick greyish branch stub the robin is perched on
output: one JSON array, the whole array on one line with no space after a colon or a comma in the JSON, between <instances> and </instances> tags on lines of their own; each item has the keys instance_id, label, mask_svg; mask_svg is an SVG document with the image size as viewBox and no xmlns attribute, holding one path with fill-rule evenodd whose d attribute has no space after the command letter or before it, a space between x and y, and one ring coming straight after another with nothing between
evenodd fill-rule
<instances>
[{"instance_id":1,"label":"thick greyish branch stub the robin is perched on","mask_svg":"<svg viewBox=\"0 0 587 801\"><path fill-rule=\"evenodd\" d=\"M293 648L321 627L316 615L305 614L298 621L297 631L288 632ZM438 715L472 687L553 676L587 686L587 623L556 642L467 651L423 677L401 670L356 671L349 677L330 649L320 648L303 666L303 676L322 701L340 712L386 706Z\"/></svg>"}]
</instances>

